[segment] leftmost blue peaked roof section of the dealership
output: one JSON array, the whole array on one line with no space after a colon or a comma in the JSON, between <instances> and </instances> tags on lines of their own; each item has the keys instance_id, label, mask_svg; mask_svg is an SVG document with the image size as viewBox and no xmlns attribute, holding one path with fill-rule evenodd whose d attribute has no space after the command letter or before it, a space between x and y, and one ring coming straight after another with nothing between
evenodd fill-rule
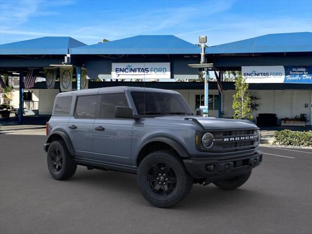
<instances>
[{"instance_id":1,"label":"leftmost blue peaked roof section of the dealership","mask_svg":"<svg viewBox=\"0 0 312 234\"><path fill-rule=\"evenodd\" d=\"M71 37L43 37L0 45L0 55L65 55L69 48L85 46Z\"/></svg>"}]
</instances>

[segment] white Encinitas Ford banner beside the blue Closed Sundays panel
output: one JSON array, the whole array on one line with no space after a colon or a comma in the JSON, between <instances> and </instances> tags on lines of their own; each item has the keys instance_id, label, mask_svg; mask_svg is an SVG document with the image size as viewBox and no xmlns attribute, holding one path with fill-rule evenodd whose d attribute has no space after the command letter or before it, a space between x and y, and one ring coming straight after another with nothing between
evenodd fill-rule
<instances>
[{"instance_id":1,"label":"white Encinitas Ford banner beside the blue Closed Sundays panel","mask_svg":"<svg viewBox=\"0 0 312 234\"><path fill-rule=\"evenodd\" d=\"M242 66L242 76L247 83L283 83L284 66Z\"/></svg>"}]
</instances>

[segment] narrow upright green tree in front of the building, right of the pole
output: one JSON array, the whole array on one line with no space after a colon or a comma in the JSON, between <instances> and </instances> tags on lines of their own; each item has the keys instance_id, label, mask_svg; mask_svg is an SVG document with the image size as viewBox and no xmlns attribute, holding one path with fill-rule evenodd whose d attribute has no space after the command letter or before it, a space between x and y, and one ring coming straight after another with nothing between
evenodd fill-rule
<instances>
[{"instance_id":1,"label":"narrow upright green tree in front of the building, right of the pole","mask_svg":"<svg viewBox=\"0 0 312 234\"><path fill-rule=\"evenodd\" d=\"M233 95L233 104L232 107L234 109L234 118L239 119L253 119L251 109L252 99L248 90L248 83L245 82L245 78L239 75L235 81L235 89L236 94Z\"/></svg>"}]
</instances>

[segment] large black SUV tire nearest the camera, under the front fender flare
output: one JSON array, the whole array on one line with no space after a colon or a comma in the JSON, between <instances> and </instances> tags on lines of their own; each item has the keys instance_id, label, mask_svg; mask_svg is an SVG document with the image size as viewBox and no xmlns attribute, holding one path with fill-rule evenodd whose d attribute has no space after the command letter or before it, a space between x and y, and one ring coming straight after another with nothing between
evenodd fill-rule
<instances>
[{"instance_id":1,"label":"large black SUV tire nearest the camera, under the front fender flare","mask_svg":"<svg viewBox=\"0 0 312 234\"><path fill-rule=\"evenodd\" d=\"M159 189L159 192L157 193L154 192L154 187L153 191L153 186L151 185L151 183L154 184L154 182L149 181L148 178L150 177L148 176L151 176L151 170L153 171L153 173L156 172L155 167L153 167L155 165L157 165L160 170L164 171L167 167L161 167L161 165L168 165L168 168L170 167L168 177L166 178L164 176L167 180L163 180L163 182L168 182L166 187L167 189L172 189L174 187L171 191L169 191L170 194L167 194L166 191L162 192L165 187ZM174 176L172 175L176 176L175 180L173 179ZM154 174L152 176L154 176ZM171 181L176 181L176 184L172 183ZM156 180L156 183L159 183L159 180ZM181 158L175 152L172 152L170 150L161 150L150 153L143 158L137 171L137 184L139 191L148 202L157 207L168 208L181 201L190 193L193 186L193 178L189 175Z\"/></svg>"}]
</instances>

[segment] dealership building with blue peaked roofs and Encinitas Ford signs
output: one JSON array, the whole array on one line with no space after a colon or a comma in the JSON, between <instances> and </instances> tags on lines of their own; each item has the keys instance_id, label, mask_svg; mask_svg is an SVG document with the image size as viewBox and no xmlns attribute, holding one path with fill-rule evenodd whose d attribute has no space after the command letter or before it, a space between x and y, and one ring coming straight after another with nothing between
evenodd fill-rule
<instances>
[{"instance_id":1,"label":"dealership building with blue peaked roofs and Encinitas Ford signs","mask_svg":"<svg viewBox=\"0 0 312 234\"><path fill-rule=\"evenodd\" d=\"M30 89L22 90L18 81L14 83L11 104L19 106L22 90L24 106L39 115L51 114L59 92L109 86L176 90L195 111L204 105L204 82L195 81L198 69L189 64L198 63L200 47L171 35L136 36L95 45L70 37L0 45L2 77L22 78L34 68L39 77L47 78ZM209 81L209 116L233 116L234 82L222 78L226 71L241 71L256 104L254 120L270 113L276 114L280 124L283 118L306 114L307 125L312 124L311 32L270 34L206 47L205 63L213 64L222 87L218 90L217 82ZM53 75L48 77L49 71ZM70 75L66 77L64 71Z\"/></svg>"}]
</instances>

